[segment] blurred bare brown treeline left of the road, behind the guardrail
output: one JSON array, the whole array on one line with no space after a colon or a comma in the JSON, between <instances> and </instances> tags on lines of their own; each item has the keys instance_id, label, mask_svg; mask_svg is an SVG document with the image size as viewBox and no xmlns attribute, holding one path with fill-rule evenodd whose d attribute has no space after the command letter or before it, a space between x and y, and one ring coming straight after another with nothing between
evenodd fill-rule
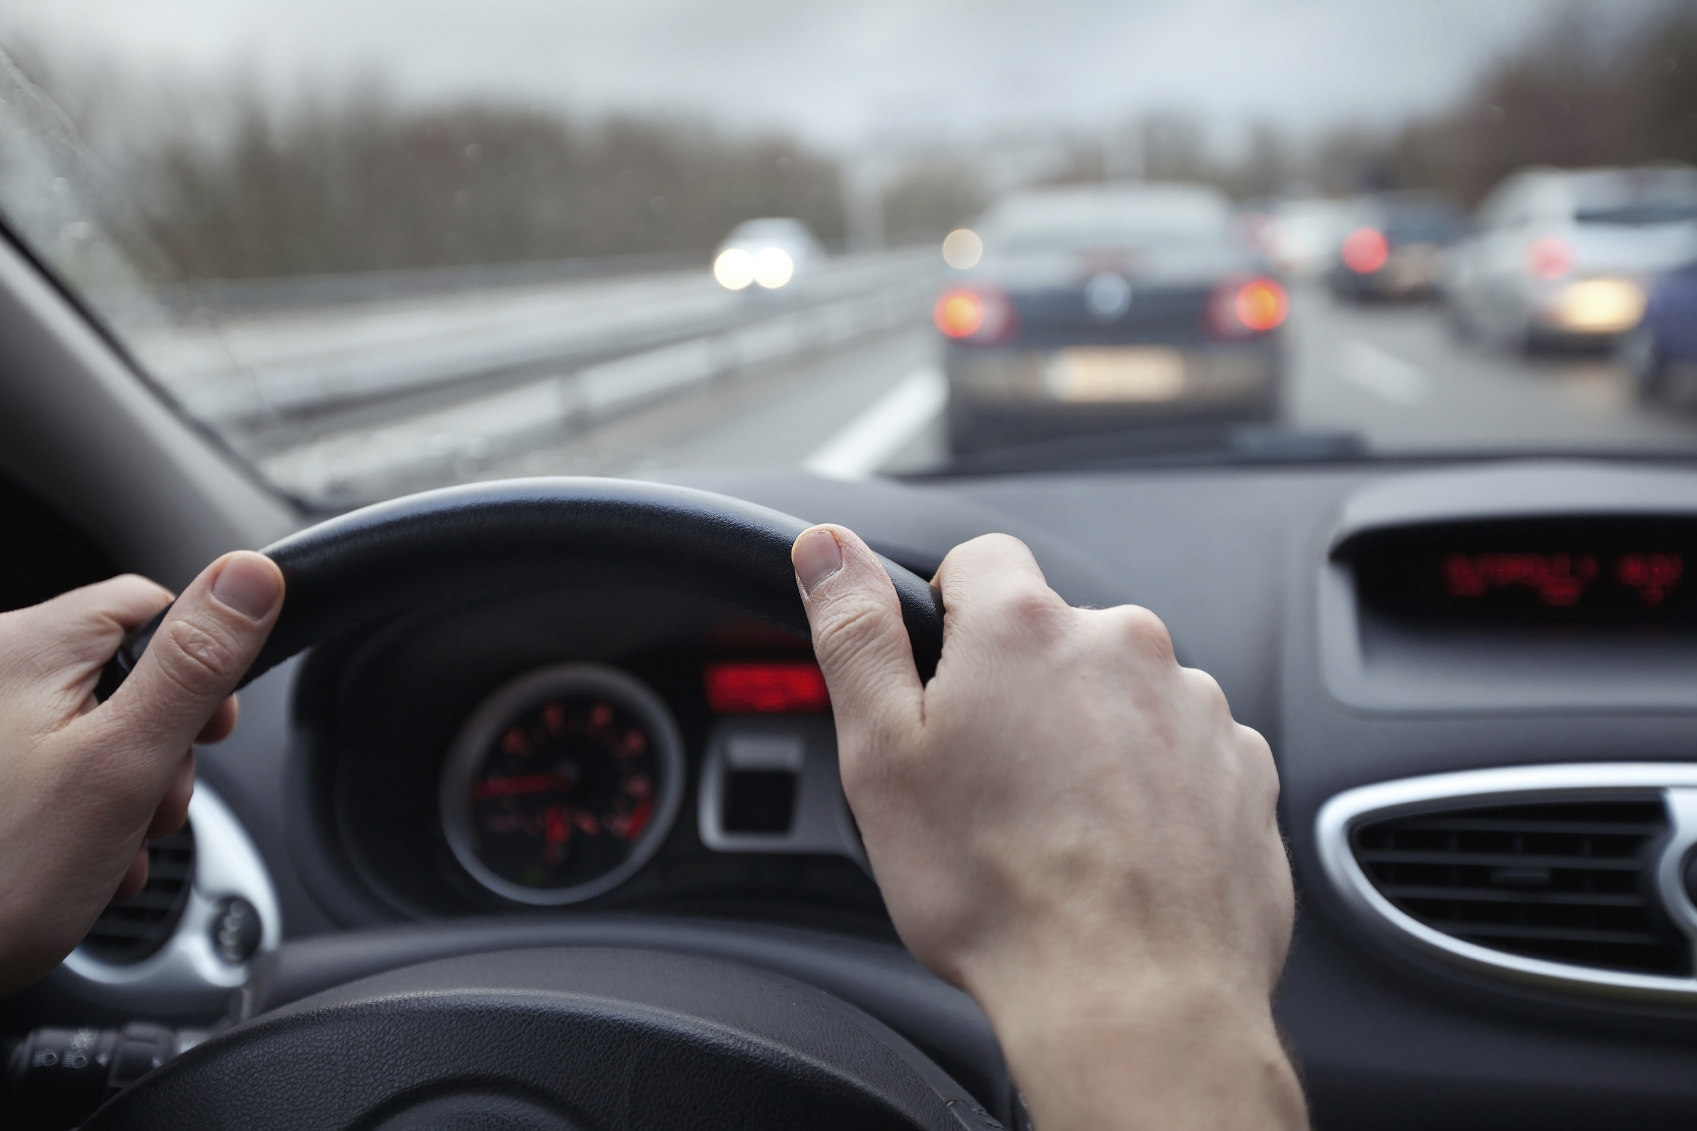
<instances>
[{"instance_id":1,"label":"blurred bare brown treeline left of the road, behind the guardrail","mask_svg":"<svg viewBox=\"0 0 1697 1131\"><path fill-rule=\"evenodd\" d=\"M170 275L251 279L708 253L740 221L843 236L837 163L706 124L346 93L287 109L14 58L66 107Z\"/></svg>"}]
</instances>

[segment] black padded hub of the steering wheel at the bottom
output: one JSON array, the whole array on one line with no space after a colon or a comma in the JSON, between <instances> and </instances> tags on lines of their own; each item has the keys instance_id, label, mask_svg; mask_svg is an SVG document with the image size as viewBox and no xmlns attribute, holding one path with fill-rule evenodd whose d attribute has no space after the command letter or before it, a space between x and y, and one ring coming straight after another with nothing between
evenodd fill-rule
<instances>
[{"instance_id":1,"label":"black padded hub of the steering wheel at the bottom","mask_svg":"<svg viewBox=\"0 0 1697 1131\"><path fill-rule=\"evenodd\" d=\"M236 1026L88 1131L1000 1131L860 1009L753 966L538 948L400 966Z\"/></svg>"}]
</instances>

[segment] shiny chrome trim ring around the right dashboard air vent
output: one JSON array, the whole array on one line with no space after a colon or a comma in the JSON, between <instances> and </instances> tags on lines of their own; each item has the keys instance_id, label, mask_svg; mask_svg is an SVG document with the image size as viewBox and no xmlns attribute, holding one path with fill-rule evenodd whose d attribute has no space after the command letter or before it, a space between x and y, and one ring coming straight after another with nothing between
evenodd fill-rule
<instances>
[{"instance_id":1,"label":"shiny chrome trim ring around the right dashboard air vent","mask_svg":"<svg viewBox=\"0 0 1697 1131\"><path fill-rule=\"evenodd\" d=\"M1649 861L1661 912L1697 954L1697 907L1685 895L1680 863L1697 844L1697 764L1587 762L1475 769L1383 781L1339 793L1315 819L1320 863L1332 888L1380 934L1473 973L1593 995L1697 1004L1697 976L1633 973L1514 954L1446 934L1386 898L1354 852L1359 829L1397 817L1507 805L1656 798L1668 836Z\"/></svg>"}]
</instances>

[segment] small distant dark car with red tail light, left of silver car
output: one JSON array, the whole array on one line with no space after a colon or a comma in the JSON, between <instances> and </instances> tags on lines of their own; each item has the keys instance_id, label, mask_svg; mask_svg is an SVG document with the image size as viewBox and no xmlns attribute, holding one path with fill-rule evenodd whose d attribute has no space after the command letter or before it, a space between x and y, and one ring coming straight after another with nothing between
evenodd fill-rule
<instances>
[{"instance_id":1,"label":"small distant dark car with red tail light, left of silver car","mask_svg":"<svg viewBox=\"0 0 1697 1131\"><path fill-rule=\"evenodd\" d=\"M1448 248L1466 234L1456 205L1422 192L1386 192L1359 202L1332 265L1341 299L1431 299Z\"/></svg>"}]
</instances>

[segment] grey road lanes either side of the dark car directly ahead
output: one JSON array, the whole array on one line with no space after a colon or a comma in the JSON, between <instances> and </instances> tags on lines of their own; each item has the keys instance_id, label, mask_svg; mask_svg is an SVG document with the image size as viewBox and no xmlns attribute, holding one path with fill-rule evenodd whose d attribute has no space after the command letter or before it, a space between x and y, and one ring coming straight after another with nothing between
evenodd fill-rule
<instances>
[{"instance_id":1,"label":"grey road lanes either side of the dark car directly ahead","mask_svg":"<svg viewBox=\"0 0 1697 1131\"><path fill-rule=\"evenodd\" d=\"M1373 453L1604 448L1697 455L1697 416L1638 404L1631 379L1610 357L1522 357L1456 341L1437 307L1346 306L1303 289L1288 348L1281 425L1349 431ZM947 457L942 408L935 335L913 326L726 380L496 462L489 474L808 465L854 477L921 470Z\"/></svg>"}]
</instances>

